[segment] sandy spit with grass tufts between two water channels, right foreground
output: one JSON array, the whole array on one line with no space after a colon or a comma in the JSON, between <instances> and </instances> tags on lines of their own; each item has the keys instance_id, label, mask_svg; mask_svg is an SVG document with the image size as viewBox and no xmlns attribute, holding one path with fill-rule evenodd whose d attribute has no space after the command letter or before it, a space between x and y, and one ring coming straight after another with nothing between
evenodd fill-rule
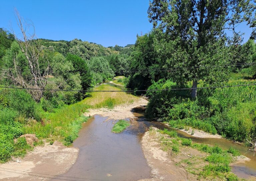
<instances>
[{"instance_id":1,"label":"sandy spit with grass tufts between two water channels, right foreground","mask_svg":"<svg viewBox=\"0 0 256 181\"><path fill-rule=\"evenodd\" d=\"M152 127L144 134L142 149L154 178L140 181L241 180L231 172L231 165L245 162L248 158L235 156L218 146L193 143L174 133ZM222 169L217 169L220 167Z\"/></svg>"}]
</instances>

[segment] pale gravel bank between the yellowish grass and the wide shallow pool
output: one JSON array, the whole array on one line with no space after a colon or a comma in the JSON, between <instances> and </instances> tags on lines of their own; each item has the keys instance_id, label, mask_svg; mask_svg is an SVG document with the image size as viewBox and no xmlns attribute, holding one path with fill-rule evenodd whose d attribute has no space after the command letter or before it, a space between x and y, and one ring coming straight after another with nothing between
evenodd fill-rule
<instances>
[{"instance_id":1,"label":"pale gravel bank between the yellowish grass and the wide shallow pool","mask_svg":"<svg viewBox=\"0 0 256 181\"><path fill-rule=\"evenodd\" d=\"M89 109L89 112L84 113L85 116L93 116L93 115L102 115L103 117L108 117L108 120L119 120L130 118L134 119L134 115L131 110L135 107L146 106L148 103L147 100L140 98L139 101L136 101L129 105L120 105L116 106L113 109L100 108L100 109Z\"/></svg>"}]
</instances>

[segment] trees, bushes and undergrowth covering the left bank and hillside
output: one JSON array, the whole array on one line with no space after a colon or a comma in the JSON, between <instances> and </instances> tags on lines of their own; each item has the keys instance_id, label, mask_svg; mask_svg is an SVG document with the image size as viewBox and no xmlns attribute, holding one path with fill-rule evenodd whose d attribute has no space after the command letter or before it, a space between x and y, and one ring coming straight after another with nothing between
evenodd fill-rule
<instances>
[{"instance_id":1,"label":"trees, bushes and undergrowth covering the left bank and hillside","mask_svg":"<svg viewBox=\"0 0 256 181\"><path fill-rule=\"evenodd\" d=\"M0 88L0 162L25 155L31 148L25 138L19 138L25 133L39 138L61 136L70 144L84 122L79 116L88 108L79 101L92 96L83 91L123 75L129 67L126 53L78 39L25 43L0 29L0 85L43 89ZM58 130L61 127L67 130Z\"/></svg>"}]
</instances>

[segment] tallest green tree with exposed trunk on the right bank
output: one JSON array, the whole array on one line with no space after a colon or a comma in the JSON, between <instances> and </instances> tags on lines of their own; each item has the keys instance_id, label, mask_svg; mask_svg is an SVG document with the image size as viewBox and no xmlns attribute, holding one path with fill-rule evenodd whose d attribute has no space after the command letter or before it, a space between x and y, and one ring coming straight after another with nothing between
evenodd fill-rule
<instances>
[{"instance_id":1,"label":"tallest green tree with exposed trunk on the right bank","mask_svg":"<svg viewBox=\"0 0 256 181\"><path fill-rule=\"evenodd\" d=\"M235 34L236 25L244 21L254 26L254 13L250 0L152 0L148 9L149 21L158 32L156 50L166 68L181 67L171 74L175 81L193 81L192 98L199 80L216 84L225 79L222 74L227 70L221 68L228 59L225 30Z\"/></svg>"}]
</instances>

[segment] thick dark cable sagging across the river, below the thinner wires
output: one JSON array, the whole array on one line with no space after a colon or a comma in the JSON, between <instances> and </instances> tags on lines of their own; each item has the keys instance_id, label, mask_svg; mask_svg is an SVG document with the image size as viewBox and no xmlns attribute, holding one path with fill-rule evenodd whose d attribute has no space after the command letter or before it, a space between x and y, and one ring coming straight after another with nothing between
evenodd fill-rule
<instances>
[{"instance_id":1,"label":"thick dark cable sagging across the river, below the thinner wires","mask_svg":"<svg viewBox=\"0 0 256 181\"><path fill-rule=\"evenodd\" d=\"M197 88L175 88L175 89L154 89L154 90L60 90L60 89L39 89L39 88L21 88L21 87L5 87L6 89L24 89L24 90L42 90L42 91L63 91L63 92L152 92L152 91L174 91L174 90L192 90L192 89L213 89L213 88L226 88L226 87L242 87L242 86L255 86L256 84L243 84L243 85L228 85L228 86L213 86L213 87L197 87Z\"/></svg>"}]
</instances>

